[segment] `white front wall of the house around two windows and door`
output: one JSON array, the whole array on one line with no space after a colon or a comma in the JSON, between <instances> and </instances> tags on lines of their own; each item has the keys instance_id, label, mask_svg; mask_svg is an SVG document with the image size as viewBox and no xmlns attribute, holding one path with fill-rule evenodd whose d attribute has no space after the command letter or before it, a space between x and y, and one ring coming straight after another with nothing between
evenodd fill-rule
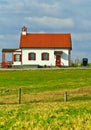
<instances>
[{"instance_id":1,"label":"white front wall of the house around two windows and door","mask_svg":"<svg viewBox=\"0 0 91 130\"><path fill-rule=\"evenodd\" d=\"M61 62L64 66L69 66L68 49L22 49L22 65L47 65L55 66L56 57L54 51L63 51ZM28 60L28 53L36 53L36 60ZM49 53L49 60L41 60L41 53Z\"/></svg>"}]
</instances>

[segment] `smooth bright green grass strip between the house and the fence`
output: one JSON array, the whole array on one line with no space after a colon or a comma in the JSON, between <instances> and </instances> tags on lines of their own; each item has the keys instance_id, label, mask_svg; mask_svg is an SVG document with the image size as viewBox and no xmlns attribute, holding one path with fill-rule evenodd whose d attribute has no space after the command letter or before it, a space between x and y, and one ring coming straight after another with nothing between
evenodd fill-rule
<instances>
[{"instance_id":1,"label":"smooth bright green grass strip between the house and the fence","mask_svg":"<svg viewBox=\"0 0 91 130\"><path fill-rule=\"evenodd\" d=\"M0 71L0 87L31 88L31 91L75 89L91 85L91 70Z\"/></svg>"}]
</instances>

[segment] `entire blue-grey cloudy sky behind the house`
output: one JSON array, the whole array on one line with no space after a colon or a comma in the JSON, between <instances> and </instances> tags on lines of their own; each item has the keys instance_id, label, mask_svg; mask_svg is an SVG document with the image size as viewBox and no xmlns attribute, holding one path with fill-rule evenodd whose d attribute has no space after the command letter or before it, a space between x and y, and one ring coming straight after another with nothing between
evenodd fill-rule
<instances>
[{"instance_id":1,"label":"entire blue-grey cloudy sky behind the house","mask_svg":"<svg viewBox=\"0 0 91 130\"><path fill-rule=\"evenodd\" d=\"M3 48L19 48L28 32L71 33L72 59L91 62L91 0L0 0L0 61Z\"/></svg>"}]
</instances>

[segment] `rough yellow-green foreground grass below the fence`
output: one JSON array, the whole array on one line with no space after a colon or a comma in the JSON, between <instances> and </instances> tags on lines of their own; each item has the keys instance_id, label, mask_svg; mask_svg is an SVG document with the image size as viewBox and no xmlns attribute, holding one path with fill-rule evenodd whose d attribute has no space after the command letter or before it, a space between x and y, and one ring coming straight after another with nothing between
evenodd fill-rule
<instances>
[{"instance_id":1,"label":"rough yellow-green foreground grass below the fence","mask_svg":"<svg viewBox=\"0 0 91 130\"><path fill-rule=\"evenodd\" d=\"M0 106L1 130L90 130L91 101Z\"/></svg>"}]
</instances>

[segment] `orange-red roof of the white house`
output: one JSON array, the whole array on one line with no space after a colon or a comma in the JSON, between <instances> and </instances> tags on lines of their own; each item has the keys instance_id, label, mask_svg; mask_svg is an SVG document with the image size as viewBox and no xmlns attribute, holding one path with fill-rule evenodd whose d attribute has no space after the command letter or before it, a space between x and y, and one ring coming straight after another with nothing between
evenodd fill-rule
<instances>
[{"instance_id":1,"label":"orange-red roof of the white house","mask_svg":"<svg viewBox=\"0 0 91 130\"><path fill-rule=\"evenodd\" d=\"M72 48L70 34L21 34L20 48Z\"/></svg>"}]
</instances>

